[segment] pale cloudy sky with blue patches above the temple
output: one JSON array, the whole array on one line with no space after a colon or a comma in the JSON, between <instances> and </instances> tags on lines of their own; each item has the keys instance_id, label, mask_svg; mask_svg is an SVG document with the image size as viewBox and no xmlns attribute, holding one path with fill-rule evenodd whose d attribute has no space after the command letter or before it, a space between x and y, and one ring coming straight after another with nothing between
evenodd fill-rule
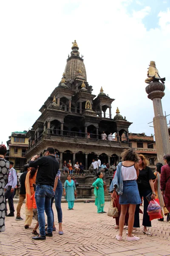
<instances>
[{"instance_id":1,"label":"pale cloudy sky with blue patches above the temple","mask_svg":"<svg viewBox=\"0 0 170 256\"><path fill-rule=\"evenodd\" d=\"M87 81L115 99L132 133L154 134L144 80L150 61L166 77L170 114L170 0L0 1L0 143L31 128L62 79L76 39ZM167 116L169 122L170 116Z\"/></svg>"}]
</instances>

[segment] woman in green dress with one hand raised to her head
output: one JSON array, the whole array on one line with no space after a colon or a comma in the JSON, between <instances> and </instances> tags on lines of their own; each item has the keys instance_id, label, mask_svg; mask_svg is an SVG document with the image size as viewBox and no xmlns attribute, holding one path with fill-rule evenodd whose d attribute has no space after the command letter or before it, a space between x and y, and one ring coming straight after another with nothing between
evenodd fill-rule
<instances>
[{"instance_id":1,"label":"woman in green dress with one hand raised to her head","mask_svg":"<svg viewBox=\"0 0 170 256\"><path fill-rule=\"evenodd\" d=\"M96 181L92 184L92 186L94 186L95 205L97 207L97 213L105 212L104 183L102 177L102 172L98 172Z\"/></svg>"}]
</instances>

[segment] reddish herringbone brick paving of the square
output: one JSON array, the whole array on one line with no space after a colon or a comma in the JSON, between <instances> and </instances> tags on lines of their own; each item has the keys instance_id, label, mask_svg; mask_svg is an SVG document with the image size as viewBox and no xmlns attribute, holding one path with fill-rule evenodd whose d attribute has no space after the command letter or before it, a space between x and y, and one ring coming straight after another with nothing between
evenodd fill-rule
<instances>
[{"instance_id":1,"label":"reddish herringbone brick paving of the square","mask_svg":"<svg viewBox=\"0 0 170 256\"><path fill-rule=\"evenodd\" d=\"M105 203L107 211L109 202ZM17 204L15 204L15 209ZM165 256L170 255L170 223L152 221L152 235L142 233L142 227L136 231L139 241L126 241L124 231L123 241L115 239L119 232L115 230L115 220L107 214L97 214L94 203L76 203L74 210L68 211L67 204L62 204L63 231L59 236L53 232L53 237L45 241L31 239L32 229L24 229L24 221L15 221L14 217L6 218L6 231L0 233L1 256ZM57 227L57 212L54 205L55 223ZM24 206L22 207L24 215ZM140 214L140 217L142 215Z\"/></svg>"}]
</instances>

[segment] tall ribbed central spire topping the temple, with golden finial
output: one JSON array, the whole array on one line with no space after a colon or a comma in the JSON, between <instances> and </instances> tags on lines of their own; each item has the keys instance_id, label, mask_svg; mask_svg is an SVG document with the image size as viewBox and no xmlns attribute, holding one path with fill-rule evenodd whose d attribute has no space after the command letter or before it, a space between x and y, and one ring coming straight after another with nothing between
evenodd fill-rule
<instances>
[{"instance_id":1,"label":"tall ribbed central spire topping the temple, with golden finial","mask_svg":"<svg viewBox=\"0 0 170 256\"><path fill-rule=\"evenodd\" d=\"M68 55L67 64L65 66L65 79L66 81L68 81L68 79L74 80L79 74L79 70L81 70L82 79L87 81L85 64L82 58L83 56L79 56L79 47L76 40L74 40L72 44L71 56Z\"/></svg>"}]
</instances>

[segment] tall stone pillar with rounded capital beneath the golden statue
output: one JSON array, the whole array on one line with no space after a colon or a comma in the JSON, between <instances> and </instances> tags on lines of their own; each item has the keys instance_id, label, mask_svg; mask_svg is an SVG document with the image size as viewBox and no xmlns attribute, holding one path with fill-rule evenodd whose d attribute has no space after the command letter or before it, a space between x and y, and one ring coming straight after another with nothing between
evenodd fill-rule
<instances>
[{"instance_id":1,"label":"tall stone pillar with rounded capital beneath the golden statue","mask_svg":"<svg viewBox=\"0 0 170 256\"><path fill-rule=\"evenodd\" d=\"M170 154L170 142L167 128L167 119L163 114L161 99L164 97L165 86L160 82L151 82L146 87L148 98L153 101L155 116L153 117L153 126L155 131L156 152L158 161L163 163L165 154Z\"/></svg>"}]
</instances>

